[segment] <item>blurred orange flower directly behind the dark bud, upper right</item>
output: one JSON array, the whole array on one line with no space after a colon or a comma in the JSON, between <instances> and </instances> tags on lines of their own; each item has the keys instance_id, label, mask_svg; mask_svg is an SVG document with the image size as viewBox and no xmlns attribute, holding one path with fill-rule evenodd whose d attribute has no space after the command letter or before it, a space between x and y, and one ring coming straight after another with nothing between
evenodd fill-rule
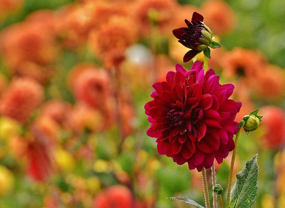
<instances>
[{"instance_id":1,"label":"blurred orange flower directly behind the dark bud, upper right","mask_svg":"<svg viewBox=\"0 0 285 208\"><path fill-rule=\"evenodd\" d=\"M232 8L223 0L206 1L201 12L205 24L211 28L213 34L224 35L235 29L236 16Z\"/></svg>"}]
</instances>

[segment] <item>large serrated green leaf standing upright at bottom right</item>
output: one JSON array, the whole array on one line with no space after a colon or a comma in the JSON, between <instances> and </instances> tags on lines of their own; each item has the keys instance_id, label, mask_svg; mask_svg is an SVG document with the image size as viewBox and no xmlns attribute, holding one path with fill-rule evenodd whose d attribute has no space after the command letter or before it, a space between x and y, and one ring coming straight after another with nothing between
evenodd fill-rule
<instances>
[{"instance_id":1,"label":"large serrated green leaf standing upright at bottom right","mask_svg":"<svg viewBox=\"0 0 285 208\"><path fill-rule=\"evenodd\" d=\"M257 195L257 154L237 174L237 180L230 195L230 208L251 208Z\"/></svg>"}]
</instances>

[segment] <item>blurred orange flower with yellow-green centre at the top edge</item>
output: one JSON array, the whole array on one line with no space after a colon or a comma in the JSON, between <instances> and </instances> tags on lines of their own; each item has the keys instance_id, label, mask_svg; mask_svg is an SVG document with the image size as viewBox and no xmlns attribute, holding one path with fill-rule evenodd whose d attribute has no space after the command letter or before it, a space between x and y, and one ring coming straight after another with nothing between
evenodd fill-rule
<instances>
[{"instance_id":1,"label":"blurred orange flower with yellow-green centre at the top edge","mask_svg":"<svg viewBox=\"0 0 285 208\"><path fill-rule=\"evenodd\" d=\"M167 32L178 7L175 0L137 0L136 4L133 12L140 35L149 35L152 24L157 24L160 32Z\"/></svg>"}]
</instances>

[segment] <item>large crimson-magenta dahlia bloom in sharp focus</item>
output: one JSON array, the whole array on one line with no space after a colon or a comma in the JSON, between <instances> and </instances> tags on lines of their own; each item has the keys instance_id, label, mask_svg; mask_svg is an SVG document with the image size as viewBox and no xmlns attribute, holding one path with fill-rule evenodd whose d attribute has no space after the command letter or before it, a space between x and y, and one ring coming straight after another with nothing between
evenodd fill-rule
<instances>
[{"instance_id":1,"label":"large crimson-magenta dahlia bloom in sharp focus","mask_svg":"<svg viewBox=\"0 0 285 208\"><path fill-rule=\"evenodd\" d=\"M159 154L172 157L179 165L200 172L210 168L214 158L221 164L235 147L238 130L235 116L241 103L230 100L234 86L219 84L213 69L204 75L203 62L190 71L176 64L166 81L153 84L153 100L145 104L151 124L147 135L156 137Z\"/></svg>"}]
</instances>

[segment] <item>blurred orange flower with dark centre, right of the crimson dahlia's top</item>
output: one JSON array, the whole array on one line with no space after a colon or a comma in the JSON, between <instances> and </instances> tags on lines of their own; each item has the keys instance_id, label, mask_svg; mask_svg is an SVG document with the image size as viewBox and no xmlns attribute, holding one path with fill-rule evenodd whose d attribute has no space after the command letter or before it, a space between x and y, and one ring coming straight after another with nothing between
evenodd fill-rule
<instances>
[{"instance_id":1,"label":"blurred orange flower with dark centre, right of the crimson dahlia's top","mask_svg":"<svg viewBox=\"0 0 285 208\"><path fill-rule=\"evenodd\" d=\"M255 77L260 68L266 65L266 60L260 52L235 48L225 53L221 65L224 77L228 79L247 78Z\"/></svg>"}]
</instances>

